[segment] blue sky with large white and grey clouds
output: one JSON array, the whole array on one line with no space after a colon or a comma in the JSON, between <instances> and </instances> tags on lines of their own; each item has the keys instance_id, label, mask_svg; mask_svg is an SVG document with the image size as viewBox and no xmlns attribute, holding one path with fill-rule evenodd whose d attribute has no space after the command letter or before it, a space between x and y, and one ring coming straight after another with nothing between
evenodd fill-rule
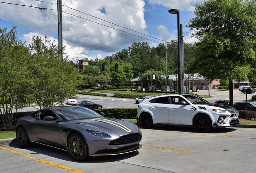
<instances>
[{"instance_id":1,"label":"blue sky with large white and grey clouds","mask_svg":"<svg viewBox=\"0 0 256 173\"><path fill-rule=\"evenodd\" d=\"M103 59L134 42L156 47L177 40L178 15L170 14L170 9L180 11L184 42L194 43L186 24L200 1L62 0L63 57L74 63L77 58ZM0 9L0 28L17 27L17 37L26 45L32 36L46 36L58 45L57 0L0 0Z\"/></svg>"}]
</instances>

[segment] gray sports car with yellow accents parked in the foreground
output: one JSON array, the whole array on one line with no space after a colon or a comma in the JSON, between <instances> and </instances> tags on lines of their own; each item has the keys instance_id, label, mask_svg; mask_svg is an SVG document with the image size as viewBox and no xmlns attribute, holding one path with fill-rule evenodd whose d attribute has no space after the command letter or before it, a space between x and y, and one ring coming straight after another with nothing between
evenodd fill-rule
<instances>
[{"instance_id":1,"label":"gray sports car with yellow accents parked in the foreground","mask_svg":"<svg viewBox=\"0 0 256 173\"><path fill-rule=\"evenodd\" d=\"M19 147L31 142L64 148L75 161L141 148L142 133L130 121L105 118L85 107L50 107L17 120Z\"/></svg>"}]
</instances>

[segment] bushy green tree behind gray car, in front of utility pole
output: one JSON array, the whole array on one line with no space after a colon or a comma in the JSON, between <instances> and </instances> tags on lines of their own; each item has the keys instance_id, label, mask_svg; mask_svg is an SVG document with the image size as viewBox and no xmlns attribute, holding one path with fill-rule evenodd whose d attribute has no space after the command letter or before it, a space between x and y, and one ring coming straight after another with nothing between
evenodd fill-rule
<instances>
[{"instance_id":1,"label":"bushy green tree behind gray car, in front of utility pole","mask_svg":"<svg viewBox=\"0 0 256 173\"><path fill-rule=\"evenodd\" d=\"M54 103L62 103L65 98L75 95L78 85L78 73L73 64L66 60L59 60L58 54L62 50L54 41L36 39L32 37L29 44L31 60L29 69L31 78L31 99L30 103L37 103L40 109L54 106Z\"/></svg>"}]
</instances>

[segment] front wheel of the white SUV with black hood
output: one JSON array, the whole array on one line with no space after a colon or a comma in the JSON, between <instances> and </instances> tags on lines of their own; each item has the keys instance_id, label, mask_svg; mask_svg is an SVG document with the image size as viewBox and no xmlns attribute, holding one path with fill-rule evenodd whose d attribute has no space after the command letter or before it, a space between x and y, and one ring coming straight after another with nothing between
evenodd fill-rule
<instances>
[{"instance_id":1,"label":"front wheel of the white SUV with black hood","mask_svg":"<svg viewBox=\"0 0 256 173\"><path fill-rule=\"evenodd\" d=\"M199 114L194 118L194 127L198 132L206 133L212 129L212 121L208 115Z\"/></svg>"}]
</instances>

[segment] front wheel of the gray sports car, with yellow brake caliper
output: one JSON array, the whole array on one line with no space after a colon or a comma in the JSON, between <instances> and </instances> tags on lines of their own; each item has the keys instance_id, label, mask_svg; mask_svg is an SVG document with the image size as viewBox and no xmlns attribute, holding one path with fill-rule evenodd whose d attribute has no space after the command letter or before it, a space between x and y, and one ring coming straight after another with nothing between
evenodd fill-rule
<instances>
[{"instance_id":1,"label":"front wheel of the gray sports car, with yellow brake caliper","mask_svg":"<svg viewBox=\"0 0 256 173\"><path fill-rule=\"evenodd\" d=\"M78 133L73 133L68 138L68 153L74 161L84 161L89 159L88 147L84 137Z\"/></svg>"}]
</instances>

